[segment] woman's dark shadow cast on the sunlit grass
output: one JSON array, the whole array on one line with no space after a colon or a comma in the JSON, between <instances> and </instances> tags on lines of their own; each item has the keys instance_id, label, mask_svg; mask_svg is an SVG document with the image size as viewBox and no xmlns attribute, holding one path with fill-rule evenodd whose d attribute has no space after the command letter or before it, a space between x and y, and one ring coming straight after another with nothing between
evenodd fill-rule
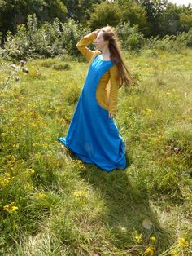
<instances>
[{"instance_id":1,"label":"woman's dark shadow cast on the sunlit grass","mask_svg":"<svg viewBox=\"0 0 192 256\"><path fill-rule=\"evenodd\" d=\"M161 227L157 214L151 209L146 188L137 188L134 181L131 181L129 166L126 170L113 170L108 173L91 164L85 166L86 170L81 173L81 178L103 195L107 215L103 215L102 220L116 237L113 243L118 249L133 247L135 231L143 234L146 247L149 245L150 236L156 237L157 255L169 248L172 236ZM144 220L151 223L151 228L143 227Z\"/></svg>"}]
</instances>

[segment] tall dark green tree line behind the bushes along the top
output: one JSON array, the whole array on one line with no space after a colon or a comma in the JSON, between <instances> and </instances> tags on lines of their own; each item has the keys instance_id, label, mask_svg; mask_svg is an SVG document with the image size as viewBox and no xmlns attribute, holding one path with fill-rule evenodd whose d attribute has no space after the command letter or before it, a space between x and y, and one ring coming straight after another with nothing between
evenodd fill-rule
<instances>
[{"instance_id":1,"label":"tall dark green tree line behind the bushes along the top","mask_svg":"<svg viewBox=\"0 0 192 256\"><path fill-rule=\"evenodd\" d=\"M75 20L91 30L129 22L146 38L187 33L192 27L192 5L179 7L168 0L0 0L2 37L27 24L28 14L37 16L39 26L55 18L62 23Z\"/></svg>"}]
</instances>

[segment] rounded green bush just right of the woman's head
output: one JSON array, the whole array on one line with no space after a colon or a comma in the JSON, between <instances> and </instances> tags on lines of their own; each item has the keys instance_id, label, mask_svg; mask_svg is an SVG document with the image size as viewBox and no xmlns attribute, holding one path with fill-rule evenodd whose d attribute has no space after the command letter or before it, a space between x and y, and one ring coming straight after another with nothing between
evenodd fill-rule
<instances>
[{"instance_id":1,"label":"rounded green bush just right of the woman's head","mask_svg":"<svg viewBox=\"0 0 192 256\"><path fill-rule=\"evenodd\" d=\"M116 31L124 50L138 50L143 46L145 38L138 30L138 25L133 24L131 27L130 22L120 22L116 26Z\"/></svg>"}]
</instances>

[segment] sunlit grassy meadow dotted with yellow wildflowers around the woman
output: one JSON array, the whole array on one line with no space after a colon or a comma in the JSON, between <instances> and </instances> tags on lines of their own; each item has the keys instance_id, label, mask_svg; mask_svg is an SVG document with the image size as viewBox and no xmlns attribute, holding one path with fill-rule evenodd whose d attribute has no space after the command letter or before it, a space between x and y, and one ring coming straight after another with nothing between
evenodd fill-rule
<instances>
[{"instance_id":1,"label":"sunlit grassy meadow dotted with yellow wildflowers around the woman","mask_svg":"<svg viewBox=\"0 0 192 256\"><path fill-rule=\"evenodd\" d=\"M23 73L0 60L0 86L19 78L0 94L1 255L191 255L192 50L124 58L137 82L114 120L129 165L110 173L56 141L88 64L31 60Z\"/></svg>"}]
</instances>

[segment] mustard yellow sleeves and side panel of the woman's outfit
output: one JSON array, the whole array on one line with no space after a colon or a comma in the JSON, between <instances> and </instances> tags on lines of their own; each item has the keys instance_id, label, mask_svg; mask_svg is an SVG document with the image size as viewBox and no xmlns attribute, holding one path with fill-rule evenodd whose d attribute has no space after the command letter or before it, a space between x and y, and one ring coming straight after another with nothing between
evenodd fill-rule
<instances>
[{"instance_id":1,"label":"mustard yellow sleeves and side panel of the woman's outfit","mask_svg":"<svg viewBox=\"0 0 192 256\"><path fill-rule=\"evenodd\" d=\"M100 51L92 51L87 47L95 38L97 38L97 35L95 32L92 32L87 34L84 38L81 38L81 40L76 44L76 47L81 51L82 55L85 56L86 60L89 61L89 64L94 60L94 57L101 54ZM116 64L114 64L106 73L103 74L103 77L101 77L98 82L96 90L96 99L98 100L98 104L111 113L116 113L117 111L119 86L120 77L118 68Z\"/></svg>"}]
</instances>

